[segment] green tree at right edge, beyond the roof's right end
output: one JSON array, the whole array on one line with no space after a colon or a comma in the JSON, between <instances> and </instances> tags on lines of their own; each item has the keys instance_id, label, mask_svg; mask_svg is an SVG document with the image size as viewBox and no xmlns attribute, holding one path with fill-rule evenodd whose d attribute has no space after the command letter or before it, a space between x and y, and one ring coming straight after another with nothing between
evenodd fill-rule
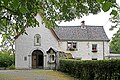
<instances>
[{"instance_id":1,"label":"green tree at right edge, beyond the roof's right end","mask_svg":"<svg viewBox=\"0 0 120 80\"><path fill-rule=\"evenodd\" d=\"M117 33L112 37L112 41L110 42L110 48L112 52L120 53L120 28Z\"/></svg>"}]
</instances>

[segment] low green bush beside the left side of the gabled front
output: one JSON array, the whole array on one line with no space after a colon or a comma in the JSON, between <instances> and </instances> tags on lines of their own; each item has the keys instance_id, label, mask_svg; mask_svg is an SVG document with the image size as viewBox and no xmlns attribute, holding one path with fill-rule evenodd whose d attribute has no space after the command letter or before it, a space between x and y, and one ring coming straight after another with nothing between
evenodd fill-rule
<instances>
[{"instance_id":1,"label":"low green bush beside the left side of the gabled front","mask_svg":"<svg viewBox=\"0 0 120 80\"><path fill-rule=\"evenodd\" d=\"M0 67L9 67L14 64L14 55L9 51L0 52Z\"/></svg>"}]
</instances>

